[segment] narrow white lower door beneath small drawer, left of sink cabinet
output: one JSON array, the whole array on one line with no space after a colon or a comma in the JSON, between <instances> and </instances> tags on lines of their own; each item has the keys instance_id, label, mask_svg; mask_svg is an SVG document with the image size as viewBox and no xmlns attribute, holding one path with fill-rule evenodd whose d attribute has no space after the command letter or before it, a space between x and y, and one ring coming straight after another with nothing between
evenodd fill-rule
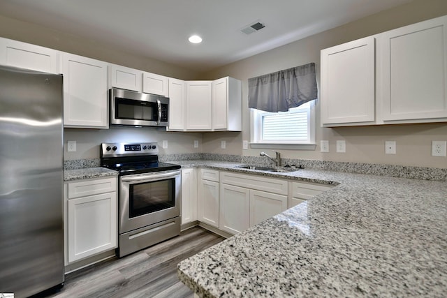
<instances>
[{"instance_id":1,"label":"narrow white lower door beneath small drawer, left of sink cabinet","mask_svg":"<svg viewBox=\"0 0 447 298\"><path fill-rule=\"evenodd\" d=\"M219 182L200 179L197 205L198 220L219 228Z\"/></svg>"}]
</instances>

